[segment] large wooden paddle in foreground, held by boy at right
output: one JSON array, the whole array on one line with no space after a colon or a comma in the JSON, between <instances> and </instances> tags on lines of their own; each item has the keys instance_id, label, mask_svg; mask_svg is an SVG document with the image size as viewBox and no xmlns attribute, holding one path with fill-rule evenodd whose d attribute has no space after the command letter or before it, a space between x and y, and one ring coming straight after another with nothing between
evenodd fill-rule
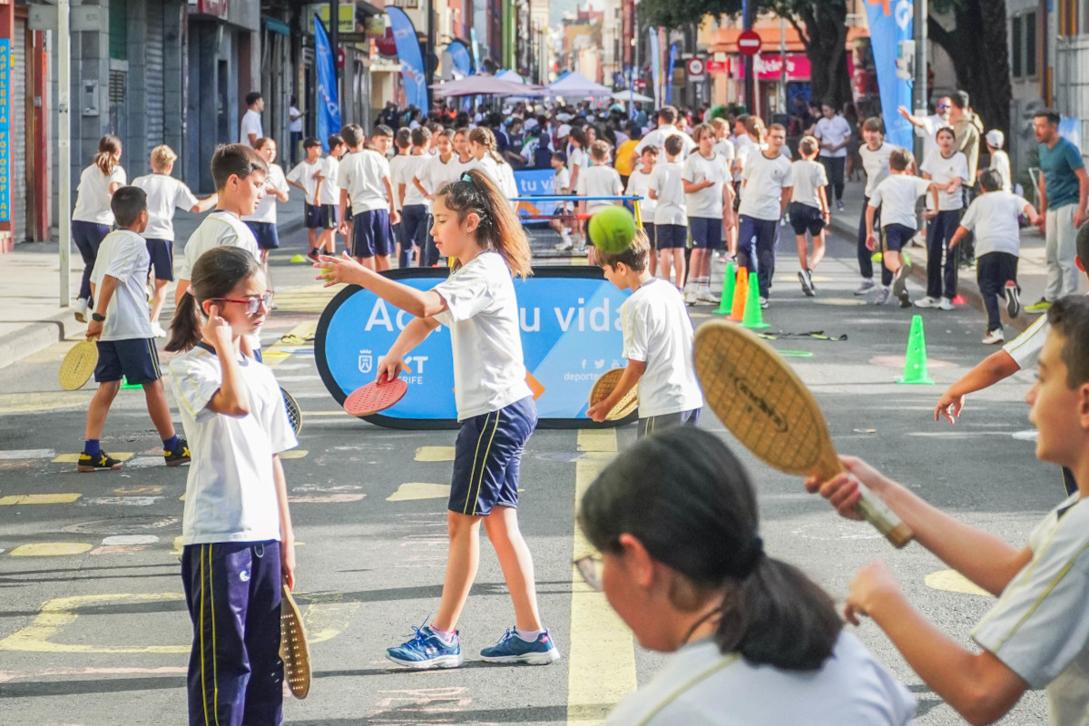
<instances>
[{"instance_id":1,"label":"large wooden paddle in foreground, held by boy at right","mask_svg":"<svg viewBox=\"0 0 1089 726\"><path fill-rule=\"evenodd\" d=\"M726 322L696 331L696 374L707 404L746 448L771 467L821 479L844 470L828 424L809 389L775 350L754 333ZM902 547L910 528L859 484L855 510Z\"/></svg>"}]
</instances>

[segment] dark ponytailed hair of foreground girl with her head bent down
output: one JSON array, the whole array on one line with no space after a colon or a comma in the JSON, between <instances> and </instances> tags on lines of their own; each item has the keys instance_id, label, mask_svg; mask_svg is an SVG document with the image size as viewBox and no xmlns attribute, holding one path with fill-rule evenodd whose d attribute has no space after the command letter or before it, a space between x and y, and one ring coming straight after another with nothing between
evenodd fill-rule
<instances>
[{"instance_id":1,"label":"dark ponytailed hair of foreground girl with her head bent down","mask_svg":"<svg viewBox=\"0 0 1089 726\"><path fill-rule=\"evenodd\" d=\"M714 633L723 653L786 670L832 654L843 628L832 599L763 554L752 484L718 436L677 427L641 439L590 484L578 522L601 552L619 552L626 532L695 590L724 590Z\"/></svg>"}]
</instances>

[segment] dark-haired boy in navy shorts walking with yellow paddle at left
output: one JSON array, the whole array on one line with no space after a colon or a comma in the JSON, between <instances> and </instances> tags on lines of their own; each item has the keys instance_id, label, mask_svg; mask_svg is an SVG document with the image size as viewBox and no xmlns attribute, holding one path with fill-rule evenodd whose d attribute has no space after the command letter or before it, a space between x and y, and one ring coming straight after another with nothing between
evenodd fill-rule
<instances>
[{"instance_id":1,"label":"dark-haired boy in navy shorts walking with yellow paddle at left","mask_svg":"<svg viewBox=\"0 0 1089 726\"><path fill-rule=\"evenodd\" d=\"M118 229L106 235L91 271L95 311L87 323L87 337L97 339L98 391L87 407L87 429L78 471L121 468L121 462L102 451L100 441L110 405L121 390L121 380L143 385L147 413L162 440L167 466L189 460L188 445L179 439L170 420L170 405L162 387L159 355L155 349L151 321L147 317L147 268L150 256L140 236L147 229L147 193L123 186L110 199Z\"/></svg>"}]
</instances>

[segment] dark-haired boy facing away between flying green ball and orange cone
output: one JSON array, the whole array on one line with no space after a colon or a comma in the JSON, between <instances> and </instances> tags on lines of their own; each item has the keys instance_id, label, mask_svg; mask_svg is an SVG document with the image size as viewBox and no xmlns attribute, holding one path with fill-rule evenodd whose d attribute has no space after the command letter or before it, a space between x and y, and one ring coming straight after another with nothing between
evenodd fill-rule
<instances>
[{"instance_id":1,"label":"dark-haired boy facing away between flying green ball and orange cone","mask_svg":"<svg viewBox=\"0 0 1089 726\"><path fill-rule=\"evenodd\" d=\"M669 282L672 267L673 285L684 290L685 245L688 243L688 208L684 194L684 165L677 160L684 144L673 134L663 144L665 161L659 161L650 175L647 194L654 201L654 242L658 247L658 267Z\"/></svg>"}]
</instances>

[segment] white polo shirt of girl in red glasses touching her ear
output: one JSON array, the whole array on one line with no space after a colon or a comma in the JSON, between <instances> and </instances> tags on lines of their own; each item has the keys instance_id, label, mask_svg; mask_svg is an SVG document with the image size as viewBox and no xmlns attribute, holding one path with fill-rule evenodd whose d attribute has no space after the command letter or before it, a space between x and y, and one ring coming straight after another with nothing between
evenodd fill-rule
<instances>
[{"instance_id":1,"label":"white polo shirt of girl in red glasses touching her ear","mask_svg":"<svg viewBox=\"0 0 1089 726\"><path fill-rule=\"evenodd\" d=\"M280 540L272 456L298 445L272 371L238 364L249 414L208 408L223 384L219 356L195 347L170 361L170 385L188 440L183 544Z\"/></svg>"}]
</instances>

